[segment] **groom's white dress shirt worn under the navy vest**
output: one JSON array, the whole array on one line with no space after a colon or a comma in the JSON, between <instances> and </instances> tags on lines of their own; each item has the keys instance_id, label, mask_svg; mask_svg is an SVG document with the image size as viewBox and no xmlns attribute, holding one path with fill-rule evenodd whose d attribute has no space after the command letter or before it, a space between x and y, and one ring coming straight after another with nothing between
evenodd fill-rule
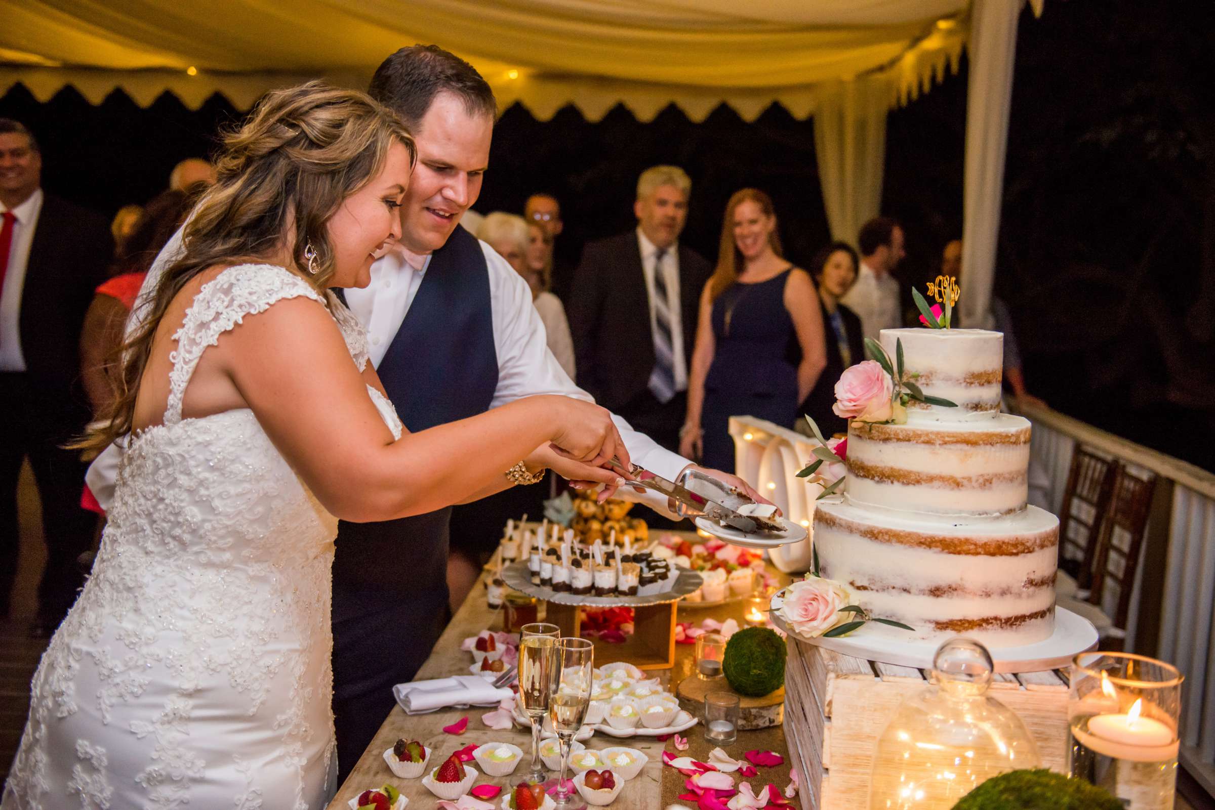
<instances>
[{"instance_id":1,"label":"groom's white dress shirt worn under the navy vest","mask_svg":"<svg viewBox=\"0 0 1215 810\"><path fill-rule=\"evenodd\" d=\"M548 350L544 324L532 305L527 282L493 248L485 242L480 244L490 273L493 344L498 355L498 386L490 407L496 408L514 400L544 393L593 401L589 393L575 385L561 370L553 352ZM177 231L143 279L140 299L126 324L128 330L142 317L141 305L145 296L154 288L165 265L180 250L181 231ZM362 289L345 290L346 304L367 328L368 355L377 368L405 321L429 265L429 254L412 254L397 245L372 265L371 284ZM425 346L419 346L418 351L425 351ZM690 464L682 455L660 447L649 436L633 430L620 417L614 414L612 419L634 464L667 480L674 480ZM85 476L89 488L103 509L109 508L113 498L119 458L120 451L114 446L108 447L97 457ZM621 489L620 497L640 500L663 514L669 514L666 510L666 498L656 493L638 494L632 489Z\"/></svg>"}]
</instances>

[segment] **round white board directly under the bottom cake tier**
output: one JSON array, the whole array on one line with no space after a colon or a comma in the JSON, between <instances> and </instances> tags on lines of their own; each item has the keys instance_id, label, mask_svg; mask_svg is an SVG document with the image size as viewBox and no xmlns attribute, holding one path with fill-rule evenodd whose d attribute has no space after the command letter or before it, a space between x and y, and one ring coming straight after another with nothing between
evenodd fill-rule
<instances>
[{"instance_id":1,"label":"round white board directly under the bottom cake tier","mask_svg":"<svg viewBox=\"0 0 1215 810\"><path fill-rule=\"evenodd\" d=\"M772 622L784 633L824 650L831 650L843 656L877 661L898 667L931 669L932 658L943 639L925 641L910 639L899 640L885 631L876 630L872 624L865 624L846 636L810 639L795 633L785 624L778 608L785 604L785 591L772 597ZM965 633L960 635L966 635ZM1059 669L1072 665L1072 658L1078 652L1097 646L1097 629L1092 622L1072 611L1055 608L1055 633L1049 639L1019 647L989 648L991 661L998 673L1034 673L1047 669Z\"/></svg>"}]
</instances>

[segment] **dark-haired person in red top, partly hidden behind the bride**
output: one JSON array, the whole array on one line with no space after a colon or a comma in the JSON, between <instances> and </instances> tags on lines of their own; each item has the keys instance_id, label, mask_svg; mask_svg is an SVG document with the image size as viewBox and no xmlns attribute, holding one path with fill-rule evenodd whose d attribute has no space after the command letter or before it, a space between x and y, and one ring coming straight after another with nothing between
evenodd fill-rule
<instances>
[{"instance_id":1,"label":"dark-haired person in red top, partly hidden behind the bride","mask_svg":"<svg viewBox=\"0 0 1215 810\"><path fill-rule=\"evenodd\" d=\"M154 197L139 228L124 243L118 274L103 282L92 296L80 330L80 380L95 414L104 412L113 397L109 372L118 361L115 351L143 277L188 213L186 192L166 191Z\"/></svg>"}]
</instances>

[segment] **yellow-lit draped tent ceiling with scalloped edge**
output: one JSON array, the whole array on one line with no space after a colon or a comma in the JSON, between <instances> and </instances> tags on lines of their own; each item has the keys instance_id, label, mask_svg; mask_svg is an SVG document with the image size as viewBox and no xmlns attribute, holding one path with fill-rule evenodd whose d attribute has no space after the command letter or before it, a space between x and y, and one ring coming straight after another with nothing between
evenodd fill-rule
<instances>
[{"instance_id":1,"label":"yellow-lit draped tent ceiling with scalloped edge","mask_svg":"<svg viewBox=\"0 0 1215 810\"><path fill-rule=\"evenodd\" d=\"M745 7L744 7L745 6ZM269 87L327 77L362 85L402 45L440 43L537 118L567 103L589 119L625 103L648 120L676 103L700 120L720 103L753 119L799 118L816 86L888 72L891 101L949 61L967 0L0 0L0 91L91 102L165 90L197 107L248 107ZM187 70L193 69L193 73Z\"/></svg>"}]
</instances>

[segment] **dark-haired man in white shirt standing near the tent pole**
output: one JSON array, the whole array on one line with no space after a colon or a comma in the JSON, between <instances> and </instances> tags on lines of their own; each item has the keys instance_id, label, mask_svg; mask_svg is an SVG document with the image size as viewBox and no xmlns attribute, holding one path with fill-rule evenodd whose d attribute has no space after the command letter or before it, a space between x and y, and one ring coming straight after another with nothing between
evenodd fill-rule
<instances>
[{"instance_id":1,"label":"dark-haired man in white shirt standing near the tent pole","mask_svg":"<svg viewBox=\"0 0 1215 810\"><path fill-rule=\"evenodd\" d=\"M860 316L865 336L878 340L882 329L903 325L902 285L892 276L906 255L903 226L888 216L870 220L861 226L857 247L860 248L860 272L842 300Z\"/></svg>"}]
</instances>

